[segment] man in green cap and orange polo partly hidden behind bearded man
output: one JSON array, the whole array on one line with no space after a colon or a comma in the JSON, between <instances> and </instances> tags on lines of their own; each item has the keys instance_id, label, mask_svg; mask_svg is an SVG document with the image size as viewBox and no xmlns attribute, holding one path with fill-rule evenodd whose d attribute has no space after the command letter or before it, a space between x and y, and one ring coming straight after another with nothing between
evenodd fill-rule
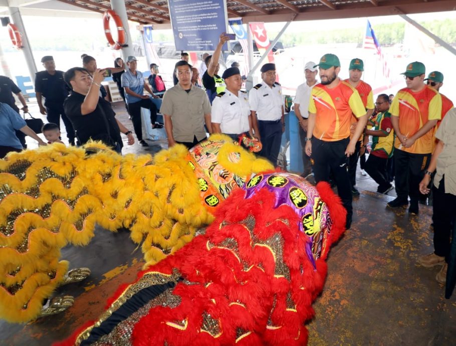
<instances>
[{"instance_id":1,"label":"man in green cap and orange polo partly hidden behind bearded man","mask_svg":"<svg viewBox=\"0 0 456 346\"><path fill-rule=\"evenodd\" d=\"M370 119L370 116L374 112L374 96L372 95L372 88L369 84L361 80L364 71L364 62L361 59L355 58L350 61L350 66L348 68L349 78L345 80L348 82L353 88L358 90L359 96L363 101L364 108L367 112L367 119ZM353 115L351 117L351 131L350 131L350 139L353 136L353 131L356 128L356 124L358 123L358 118ZM355 152L353 155L350 156L348 162L348 174L350 176L351 182L351 192L353 196L359 196L358 190L355 188L356 185L356 166L358 165L358 158L359 154L364 154L365 147L362 147L363 143L363 135L359 137L358 141L356 142Z\"/></svg>"}]
</instances>

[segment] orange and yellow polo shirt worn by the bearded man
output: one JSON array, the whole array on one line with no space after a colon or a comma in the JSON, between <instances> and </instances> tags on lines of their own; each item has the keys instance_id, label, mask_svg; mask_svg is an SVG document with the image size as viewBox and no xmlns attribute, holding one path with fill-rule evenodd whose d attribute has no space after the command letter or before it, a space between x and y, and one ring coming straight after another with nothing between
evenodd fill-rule
<instances>
[{"instance_id":1,"label":"orange and yellow polo shirt worn by the bearded man","mask_svg":"<svg viewBox=\"0 0 456 346\"><path fill-rule=\"evenodd\" d=\"M340 81L332 89L321 83L313 87L309 113L316 114L315 138L333 142L349 137L352 115L359 118L366 109L358 91Z\"/></svg>"}]
</instances>

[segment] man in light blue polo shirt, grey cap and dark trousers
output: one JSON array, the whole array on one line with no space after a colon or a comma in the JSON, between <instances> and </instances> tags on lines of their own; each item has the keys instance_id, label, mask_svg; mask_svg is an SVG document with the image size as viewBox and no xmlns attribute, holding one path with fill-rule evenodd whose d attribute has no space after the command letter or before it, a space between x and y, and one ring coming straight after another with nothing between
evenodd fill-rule
<instances>
[{"instance_id":1,"label":"man in light blue polo shirt, grey cap and dark trousers","mask_svg":"<svg viewBox=\"0 0 456 346\"><path fill-rule=\"evenodd\" d=\"M142 139L141 107L149 109L152 128L158 127L155 123L157 121L157 107L148 95L144 95L144 89L146 89L153 98L158 98L158 96L154 95L147 83L144 83L144 76L142 73L136 70L136 57L130 55L127 58L127 66L128 69L122 75L122 87L125 90L131 121L133 122L139 144L142 146L149 146L149 144Z\"/></svg>"}]
</instances>

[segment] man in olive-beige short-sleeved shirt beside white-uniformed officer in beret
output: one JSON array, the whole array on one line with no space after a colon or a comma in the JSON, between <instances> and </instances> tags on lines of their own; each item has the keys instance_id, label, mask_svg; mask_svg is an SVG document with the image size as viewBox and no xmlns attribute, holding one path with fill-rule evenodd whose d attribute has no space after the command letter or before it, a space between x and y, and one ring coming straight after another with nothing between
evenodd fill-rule
<instances>
[{"instance_id":1,"label":"man in olive-beige short-sleeved shirt beside white-uniformed officer in beret","mask_svg":"<svg viewBox=\"0 0 456 346\"><path fill-rule=\"evenodd\" d=\"M191 84L191 67L186 61L177 62L174 72L179 83L165 92L160 113L165 119L168 146L180 143L191 148L206 139L204 123L212 133L209 99L204 90Z\"/></svg>"}]
</instances>

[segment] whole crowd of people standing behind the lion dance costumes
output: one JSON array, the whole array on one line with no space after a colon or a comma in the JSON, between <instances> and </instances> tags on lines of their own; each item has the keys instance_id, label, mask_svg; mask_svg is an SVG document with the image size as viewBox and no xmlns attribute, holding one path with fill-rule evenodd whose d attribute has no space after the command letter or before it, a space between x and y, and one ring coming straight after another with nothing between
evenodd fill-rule
<instances>
[{"instance_id":1,"label":"whole crowd of people standing behind the lion dance costumes","mask_svg":"<svg viewBox=\"0 0 456 346\"><path fill-rule=\"evenodd\" d=\"M285 103L282 88L276 82L276 66L264 64L261 83L249 93L241 90L245 77L241 76L239 66L234 64L221 76L218 74L221 50L228 40L229 36L220 35L213 54L202 56L202 66L191 66L188 54L182 53L181 60L175 64L174 86L169 89L155 63L150 64L151 75L148 83L145 82L134 56L129 56L126 62L117 58L114 67L99 69L93 57L83 55L82 67L66 72L56 70L52 56L43 57L45 70L36 75L35 91L40 112L48 120L43 127L48 143L62 142L60 118L71 145L84 144L89 139L101 140L120 153L121 133L127 136L128 144L134 143L132 131L116 119L105 100L106 90L101 83L109 71L125 101L140 145L148 146L142 138L141 124L141 108L146 108L153 128L163 126L157 123L157 112L163 114L169 147L181 143L191 148L206 139L206 133L224 133L234 140L244 135L261 141L259 155L277 166L285 129ZM365 171L378 184L378 193L388 194L395 189L397 197L387 203L389 208L408 206L409 214L417 215L419 203L426 199L434 206L446 201L443 203L447 206L456 195L451 166L454 139L450 135L454 111L450 111L452 102L439 93L443 75L433 71L426 78L424 65L412 62L402 73L406 87L395 96L377 95L374 102L371 86L362 80L361 59L351 60L348 79L339 78L340 70L339 58L334 54L325 54L318 64L309 61L305 65L305 83L297 88L294 102L300 126L302 176L315 183L327 181L337 186L347 210L347 229L352 222L353 196L359 195L358 160L362 173ZM2 157L8 151L24 147L21 134L46 145L19 115L12 94L18 96L23 111L27 112L21 90L7 77L0 78ZM151 98L162 98L160 109ZM446 120L449 126L441 126L446 114L450 114ZM366 160L370 138L372 144ZM454 219L449 211L442 216L445 211L444 207L439 207L438 212L434 208L435 253L420 259L424 266L441 264L442 270L446 270L449 229ZM443 280L443 274L438 276L439 281Z\"/></svg>"}]
</instances>

